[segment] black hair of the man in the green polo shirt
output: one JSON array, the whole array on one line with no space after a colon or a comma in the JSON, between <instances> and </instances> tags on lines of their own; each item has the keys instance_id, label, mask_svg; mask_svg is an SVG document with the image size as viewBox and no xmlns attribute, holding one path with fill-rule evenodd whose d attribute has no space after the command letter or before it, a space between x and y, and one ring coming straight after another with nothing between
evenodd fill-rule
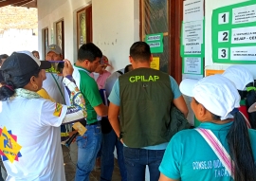
<instances>
[{"instance_id":1,"label":"black hair of the man in the green polo shirt","mask_svg":"<svg viewBox=\"0 0 256 181\"><path fill-rule=\"evenodd\" d=\"M78 51L78 61L83 62L88 60L89 62L94 62L96 58L102 57L101 49L94 45L93 43L83 44Z\"/></svg>"}]
</instances>

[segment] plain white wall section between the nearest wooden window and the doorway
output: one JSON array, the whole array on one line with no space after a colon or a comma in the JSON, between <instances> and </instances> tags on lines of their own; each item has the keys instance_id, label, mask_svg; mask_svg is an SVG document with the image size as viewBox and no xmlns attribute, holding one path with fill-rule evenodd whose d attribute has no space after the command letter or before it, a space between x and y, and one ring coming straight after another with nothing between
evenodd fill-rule
<instances>
[{"instance_id":1,"label":"plain white wall section between the nearest wooden window and the doorway","mask_svg":"<svg viewBox=\"0 0 256 181\"><path fill-rule=\"evenodd\" d=\"M117 70L129 63L129 48L139 40L138 0L93 0L93 42Z\"/></svg>"}]
</instances>

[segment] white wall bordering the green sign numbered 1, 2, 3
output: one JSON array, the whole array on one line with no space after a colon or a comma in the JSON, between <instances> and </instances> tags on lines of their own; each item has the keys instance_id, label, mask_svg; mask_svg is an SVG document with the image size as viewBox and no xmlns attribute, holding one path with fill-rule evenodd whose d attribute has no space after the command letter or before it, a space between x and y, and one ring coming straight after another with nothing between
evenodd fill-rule
<instances>
[{"instance_id":1,"label":"white wall bordering the green sign numbered 1, 2, 3","mask_svg":"<svg viewBox=\"0 0 256 181\"><path fill-rule=\"evenodd\" d=\"M205 16L206 16L206 29L205 29L205 69L225 70L230 64L227 63L212 63L212 51L211 51L211 15L213 9L226 7L229 5L246 2L247 0L205 0ZM243 64L253 74L256 79L256 65Z\"/></svg>"}]
</instances>

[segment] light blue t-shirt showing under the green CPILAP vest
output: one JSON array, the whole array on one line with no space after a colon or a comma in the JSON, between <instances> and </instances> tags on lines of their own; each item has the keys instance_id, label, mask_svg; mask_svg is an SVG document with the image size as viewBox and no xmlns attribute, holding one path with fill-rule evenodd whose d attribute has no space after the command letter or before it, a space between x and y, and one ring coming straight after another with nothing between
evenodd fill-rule
<instances>
[{"instance_id":1,"label":"light blue t-shirt showing under the green CPILAP vest","mask_svg":"<svg viewBox=\"0 0 256 181\"><path fill-rule=\"evenodd\" d=\"M179 98L181 96L181 92L178 88L178 84L177 82L174 80L174 78L172 76L169 76L170 81L171 81L171 89L173 91L174 94L174 100ZM114 103L115 105L120 105L120 97L119 97L119 80L117 80L112 88L112 91L108 97L108 100L111 103ZM143 149L147 149L147 150L165 150L166 147L168 145L167 143L162 143L159 145L155 145L155 146L148 146L148 147L143 147ZM125 146L125 145L124 145Z\"/></svg>"}]
</instances>

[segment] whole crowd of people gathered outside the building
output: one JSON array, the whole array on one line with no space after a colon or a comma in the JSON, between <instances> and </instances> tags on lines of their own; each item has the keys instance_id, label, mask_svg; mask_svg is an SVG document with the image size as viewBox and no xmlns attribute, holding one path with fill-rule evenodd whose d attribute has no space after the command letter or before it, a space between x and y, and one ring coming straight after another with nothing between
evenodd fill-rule
<instances>
[{"instance_id":1,"label":"whole crowd of people gathered outside the building","mask_svg":"<svg viewBox=\"0 0 256 181\"><path fill-rule=\"evenodd\" d=\"M111 181L115 148L122 181L144 181L147 167L151 181L256 180L256 88L245 67L231 65L223 75L178 85L150 67L145 42L131 45L129 55L130 64L112 74L93 43L79 48L73 65L59 45L47 47L46 61L38 51L1 55L6 180L64 181L61 145L74 134L75 181L89 181L95 165L101 181ZM63 71L48 71L52 61L63 61ZM174 135L179 129L171 110L184 118L189 113L183 95L192 97L201 124ZM85 132L78 135L73 123Z\"/></svg>"}]
</instances>

